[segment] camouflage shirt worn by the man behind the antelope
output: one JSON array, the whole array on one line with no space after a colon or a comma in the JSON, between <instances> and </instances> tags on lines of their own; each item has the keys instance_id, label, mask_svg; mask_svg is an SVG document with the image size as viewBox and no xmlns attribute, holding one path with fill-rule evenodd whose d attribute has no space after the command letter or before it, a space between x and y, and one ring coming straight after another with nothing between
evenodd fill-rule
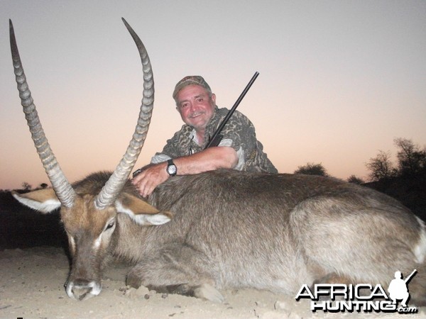
<instances>
[{"instance_id":1,"label":"camouflage shirt worn by the man behind the antelope","mask_svg":"<svg viewBox=\"0 0 426 319\"><path fill-rule=\"evenodd\" d=\"M187 156L204 150L209 137L213 135L228 111L226 108L216 106L214 115L207 123L202 145L198 144L195 129L190 125L182 125L173 138L167 141L163 151L155 154L151 163L165 162L170 158ZM253 123L242 113L235 111L221 134L223 138L219 146L233 147L239 157L235 169L246 172L278 173L266 153L263 152L263 145L256 139Z\"/></svg>"}]
</instances>

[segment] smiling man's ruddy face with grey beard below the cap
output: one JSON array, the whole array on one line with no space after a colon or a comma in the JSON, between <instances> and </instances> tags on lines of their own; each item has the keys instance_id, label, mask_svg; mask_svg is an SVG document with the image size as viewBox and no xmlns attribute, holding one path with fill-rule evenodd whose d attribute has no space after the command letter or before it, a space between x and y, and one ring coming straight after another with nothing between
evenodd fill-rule
<instances>
[{"instance_id":1,"label":"smiling man's ruddy face with grey beard below the cap","mask_svg":"<svg viewBox=\"0 0 426 319\"><path fill-rule=\"evenodd\" d=\"M204 130L214 113L216 96L199 85L188 85L176 95L177 109L182 121L195 130Z\"/></svg>"}]
</instances>

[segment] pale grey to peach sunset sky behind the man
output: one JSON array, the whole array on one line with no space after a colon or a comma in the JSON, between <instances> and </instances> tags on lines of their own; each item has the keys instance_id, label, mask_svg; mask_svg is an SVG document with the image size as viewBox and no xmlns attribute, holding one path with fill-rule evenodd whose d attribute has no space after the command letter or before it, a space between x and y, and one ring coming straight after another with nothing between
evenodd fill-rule
<instances>
[{"instance_id":1,"label":"pale grey to peach sunset sky behind the man","mask_svg":"<svg viewBox=\"0 0 426 319\"><path fill-rule=\"evenodd\" d=\"M43 128L70 181L114 169L136 125L151 57L155 106L136 167L182 125L172 99L199 74L239 106L279 172L307 162L366 179L394 138L426 145L426 1L0 1L0 189L49 183L16 89L13 21Z\"/></svg>"}]
</instances>

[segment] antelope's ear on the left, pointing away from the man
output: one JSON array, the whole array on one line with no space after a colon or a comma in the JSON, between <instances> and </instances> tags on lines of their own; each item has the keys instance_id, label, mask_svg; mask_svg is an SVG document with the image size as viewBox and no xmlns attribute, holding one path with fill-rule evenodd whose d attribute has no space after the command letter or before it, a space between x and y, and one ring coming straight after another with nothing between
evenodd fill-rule
<instances>
[{"instance_id":1,"label":"antelope's ear on the left, pointing away from the man","mask_svg":"<svg viewBox=\"0 0 426 319\"><path fill-rule=\"evenodd\" d=\"M30 191L26 194L19 194L16 191L12 191L12 196L23 205L41 213L52 213L60 208L60 201L53 189L39 189L38 191Z\"/></svg>"}]
</instances>

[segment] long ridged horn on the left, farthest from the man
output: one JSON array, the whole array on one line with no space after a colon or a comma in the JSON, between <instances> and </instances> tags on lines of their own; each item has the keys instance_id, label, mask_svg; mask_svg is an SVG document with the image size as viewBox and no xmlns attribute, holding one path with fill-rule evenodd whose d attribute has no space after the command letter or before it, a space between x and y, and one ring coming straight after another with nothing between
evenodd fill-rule
<instances>
[{"instance_id":1,"label":"long ridged horn on the left, farthest from the man","mask_svg":"<svg viewBox=\"0 0 426 319\"><path fill-rule=\"evenodd\" d=\"M28 89L26 82L26 76L23 72L21 63L21 57L19 57L18 46L16 45L15 33L13 31L12 21L9 19L9 34L11 40L11 52L13 69L15 72L16 83L18 84L19 96L21 97L21 104L23 112L31 131L31 138L35 148L37 149L38 156L43 163L46 173L52 183L53 189L55 190L56 196L60 203L66 207L72 207L74 204L75 191L72 189L71 184L67 181L67 178L60 169L58 161L50 148L48 139L45 137L45 133L38 118L38 113L35 110L33 98L31 97L31 91Z\"/></svg>"}]
</instances>

